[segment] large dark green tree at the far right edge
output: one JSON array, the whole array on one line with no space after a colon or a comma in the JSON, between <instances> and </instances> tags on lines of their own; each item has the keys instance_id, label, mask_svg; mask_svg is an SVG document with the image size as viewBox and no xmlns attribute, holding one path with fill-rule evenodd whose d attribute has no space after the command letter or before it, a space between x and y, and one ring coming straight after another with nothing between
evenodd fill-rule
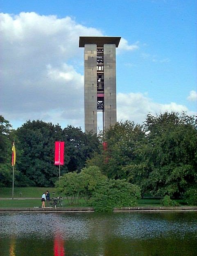
<instances>
[{"instance_id":1,"label":"large dark green tree at the far right edge","mask_svg":"<svg viewBox=\"0 0 197 256\"><path fill-rule=\"evenodd\" d=\"M145 129L146 141L138 152L147 170L146 189L177 197L197 182L195 118L174 112L147 115Z\"/></svg>"}]
</instances>

